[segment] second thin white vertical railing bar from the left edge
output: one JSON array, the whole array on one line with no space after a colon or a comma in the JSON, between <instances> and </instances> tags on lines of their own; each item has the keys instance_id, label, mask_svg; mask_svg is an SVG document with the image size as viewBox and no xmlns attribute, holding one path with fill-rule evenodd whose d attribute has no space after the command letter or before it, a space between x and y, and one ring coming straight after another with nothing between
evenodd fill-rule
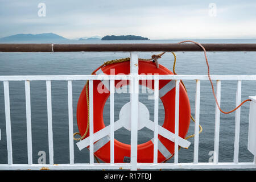
<instances>
[{"instance_id":1,"label":"second thin white vertical railing bar from the left edge","mask_svg":"<svg viewBox=\"0 0 256 182\"><path fill-rule=\"evenodd\" d=\"M26 94L26 118L27 118L27 159L28 164L32 164L32 128L31 128L31 101L30 101L30 81L25 81Z\"/></svg>"}]
</instances>

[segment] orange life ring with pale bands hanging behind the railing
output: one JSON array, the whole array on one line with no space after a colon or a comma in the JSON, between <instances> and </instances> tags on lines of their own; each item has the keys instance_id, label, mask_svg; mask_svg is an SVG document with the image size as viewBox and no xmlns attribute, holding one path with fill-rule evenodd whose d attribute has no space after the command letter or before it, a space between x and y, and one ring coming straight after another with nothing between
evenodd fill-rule
<instances>
[{"instance_id":1,"label":"orange life ring with pale bands hanging behind the railing","mask_svg":"<svg viewBox=\"0 0 256 182\"><path fill-rule=\"evenodd\" d=\"M110 75L110 69L114 69L115 75L119 73L124 73L129 75L130 73L130 61L125 61L122 63L114 63L102 67L96 72L105 73ZM139 74L159 74L159 75L173 75L169 69L163 65L159 65L159 68L155 67L155 64L148 61L139 60ZM115 81L115 86L118 87L118 82L121 80ZM100 80L93 81L93 118L94 118L94 133L104 129L104 119L103 119L103 110L106 100L109 97L108 93L99 93L97 92L97 86L100 84ZM140 81L139 84L143 85L143 81ZM148 86L148 85L144 85ZM152 86L154 90L154 80L152 81ZM85 87L82 90L79 101L77 104L77 125L80 131L80 134L83 135L87 126L87 104L86 104L86 94ZM174 133L175 128L175 81L174 80L159 80L159 97L163 102L165 117L163 127L172 133ZM190 104L182 84L180 84L180 104L179 104L179 137L185 138L188 132L189 123L190 123ZM86 137L89 136L89 131ZM101 141L100 141L101 140ZM109 137L104 137L98 140L100 142L100 147L94 148L94 155L100 158L102 161L109 163L110 162L110 139ZM95 142L94 144L96 144ZM152 163L154 156L154 139L149 140L148 142L138 144L138 162L139 163ZM174 155L174 142L171 142L167 138L158 135L158 162L161 163L164 160L170 158ZM161 146L161 147L160 147ZM114 162L123 163L126 159L130 158L130 145L119 142L114 139Z\"/></svg>"}]
</instances>

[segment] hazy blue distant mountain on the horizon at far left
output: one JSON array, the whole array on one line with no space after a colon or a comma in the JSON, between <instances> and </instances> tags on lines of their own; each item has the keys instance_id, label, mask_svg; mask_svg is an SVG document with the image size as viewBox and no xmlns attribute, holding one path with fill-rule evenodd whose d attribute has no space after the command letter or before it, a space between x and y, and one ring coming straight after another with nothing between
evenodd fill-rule
<instances>
[{"instance_id":1,"label":"hazy blue distant mountain on the horizon at far left","mask_svg":"<svg viewBox=\"0 0 256 182\"><path fill-rule=\"evenodd\" d=\"M63 36L47 33L47 34L16 34L0 38L0 42L52 42L68 40Z\"/></svg>"}]
</instances>

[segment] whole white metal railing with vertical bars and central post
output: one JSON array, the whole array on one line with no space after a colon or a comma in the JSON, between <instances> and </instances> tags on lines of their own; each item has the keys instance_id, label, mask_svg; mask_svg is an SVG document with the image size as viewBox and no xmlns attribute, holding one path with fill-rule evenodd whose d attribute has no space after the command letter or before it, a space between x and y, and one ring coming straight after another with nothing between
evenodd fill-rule
<instances>
[{"instance_id":1,"label":"whole white metal railing with vertical bars and central post","mask_svg":"<svg viewBox=\"0 0 256 182\"><path fill-rule=\"evenodd\" d=\"M114 163L114 80L130 80L131 88L135 91L139 88L139 80L147 80L147 75L138 75L138 54L131 53L131 74L130 75L64 75L64 76L0 76L3 81L5 97L5 116L6 116L6 137L7 137L7 164L0 164L0 169L213 169L213 168L256 168L256 156L253 162L239 163L239 138L240 138L240 109L236 110L236 126L234 138L234 159L233 162L218 162L218 148L220 137L220 110L216 105L215 129L214 129L214 161L213 163L199 163L199 122L200 122L200 80L208 80L206 75L151 75L155 81L154 88L154 162L137 163L137 143L138 143L138 92L131 92L131 160L130 163ZM220 104L221 80L237 80L236 105L241 102L241 81L256 80L256 75L238 76L211 76L212 80L217 80L216 97ZM93 157L93 80L110 80L110 163L94 163ZM48 116L48 144L49 144L49 164L32 163L32 135L31 135L31 105L30 105L30 81L46 81L47 88L47 116ZM53 160L53 131L52 131L52 103L51 103L51 81L65 80L68 87L68 118L69 118L69 164L56 165ZM72 108L72 81L89 80L89 163L74 163L74 143L73 143L73 108ZM178 140L175 140L174 163L158 163L158 94L159 80L176 80L175 92L175 138L179 133L179 86L180 80L196 81L195 98L195 138L193 163L179 163ZM26 117L27 117L27 164L13 164L13 150L11 140L11 117L10 117L10 97L9 81L24 81L26 92Z\"/></svg>"}]
</instances>

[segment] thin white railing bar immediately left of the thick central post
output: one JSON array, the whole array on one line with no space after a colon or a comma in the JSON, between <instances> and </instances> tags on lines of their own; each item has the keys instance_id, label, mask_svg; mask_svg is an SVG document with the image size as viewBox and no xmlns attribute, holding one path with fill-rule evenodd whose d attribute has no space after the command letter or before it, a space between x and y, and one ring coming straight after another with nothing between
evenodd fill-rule
<instances>
[{"instance_id":1,"label":"thin white railing bar immediately left of the thick central post","mask_svg":"<svg viewBox=\"0 0 256 182\"><path fill-rule=\"evenodd\" d=\"M110 80L110 163L114 164L114 80Z\"/></svg>"}]
</instances>

